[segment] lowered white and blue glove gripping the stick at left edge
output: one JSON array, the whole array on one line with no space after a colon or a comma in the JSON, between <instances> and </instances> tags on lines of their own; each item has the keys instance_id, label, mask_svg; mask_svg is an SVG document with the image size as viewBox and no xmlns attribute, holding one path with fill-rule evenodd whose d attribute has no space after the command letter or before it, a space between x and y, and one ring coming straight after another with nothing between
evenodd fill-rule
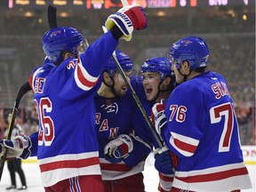
<instances>
[{"instance_id":1,"label":"lowered white and blue glove gripping the stick at left edge","mask_svg":"<svg viewBox=\"0 0 256 192\"><path fill-rule=\"evenodd\" d=\"M30 156L32 147L31 140L29 137L22 135L16 136L12 140L1 140L0 141L0 156L4 156L7 149L6 159L22 158L26 159Z\"/></svg>"}]
</instances>

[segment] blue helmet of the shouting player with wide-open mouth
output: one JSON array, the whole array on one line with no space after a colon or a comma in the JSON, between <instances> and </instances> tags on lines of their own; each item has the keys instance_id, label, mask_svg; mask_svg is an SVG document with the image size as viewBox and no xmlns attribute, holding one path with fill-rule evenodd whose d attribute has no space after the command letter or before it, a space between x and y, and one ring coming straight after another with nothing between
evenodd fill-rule
<instances>
[{"instance_id":1,"label":"blue helmet of the shouting player with wide-open mouth","mask_svg":"<svg viewBox=\"0 0 256 192\"><path fill-rule=\"evenodd\" d=\"M172 75L172 62L165 57L150 58L141 66L141 73L144 72L158 72L160 78L164 80L166 76Z\"/></svg>"}]
</instances>

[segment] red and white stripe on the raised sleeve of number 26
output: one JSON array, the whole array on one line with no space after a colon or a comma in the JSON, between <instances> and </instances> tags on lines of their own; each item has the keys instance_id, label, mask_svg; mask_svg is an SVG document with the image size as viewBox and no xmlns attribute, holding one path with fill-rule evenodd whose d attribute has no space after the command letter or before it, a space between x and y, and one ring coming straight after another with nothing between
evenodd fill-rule
<instances>
[{"instance_id":1,"label":"red and white stripe on the raised sleeve of number 26","mask_svg":"<svg viewBox=\"0 0 256 192\"><path fill-rule=\"evenodd\" d=\"M100 76L91 76L80 60L77 60L76 70L75 70L75 80L78 87L83 89L84 91L91 90L92 87L97 84Z\"/></svg>"}]
</instances>

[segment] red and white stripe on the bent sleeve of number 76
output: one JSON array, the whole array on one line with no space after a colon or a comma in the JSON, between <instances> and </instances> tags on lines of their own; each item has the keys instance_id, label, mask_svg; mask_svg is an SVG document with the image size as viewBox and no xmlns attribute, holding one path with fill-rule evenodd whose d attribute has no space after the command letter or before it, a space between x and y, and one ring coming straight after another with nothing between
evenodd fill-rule
<instances>
[{"instance_id":1,"label":"red and white stripe on the bent sleeve of number 76","mask_svg":"<svg viewBox=\"0 0 256 192\"><path fill-rule=\"evenodd\" d=\"M172 144L172 147L178 150L183 156L193 156L199 140L195 140L175 132L171 132L171 134L172 137L170 139L170 143Z\"/></svg>"}]
</instances>

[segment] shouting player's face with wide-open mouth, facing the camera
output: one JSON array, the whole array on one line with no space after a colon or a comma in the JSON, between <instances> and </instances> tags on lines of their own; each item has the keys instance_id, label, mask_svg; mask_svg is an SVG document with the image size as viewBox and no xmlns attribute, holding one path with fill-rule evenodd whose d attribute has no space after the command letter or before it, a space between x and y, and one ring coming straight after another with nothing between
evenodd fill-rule
<instances>
[{"instance_id":1,"label":"shouting player's face with wide-open mouth, facing the camera","mask_svg":"<svg viewBox=\"0 0 256 192\"><path fill-rule=\"evenodd\" d=\"M147 96L147 100L156 100L158 94L158 86L161 82L160 74L157 72L144 72L143 77L143 87Z\"/></svg>"}]
</instances>

